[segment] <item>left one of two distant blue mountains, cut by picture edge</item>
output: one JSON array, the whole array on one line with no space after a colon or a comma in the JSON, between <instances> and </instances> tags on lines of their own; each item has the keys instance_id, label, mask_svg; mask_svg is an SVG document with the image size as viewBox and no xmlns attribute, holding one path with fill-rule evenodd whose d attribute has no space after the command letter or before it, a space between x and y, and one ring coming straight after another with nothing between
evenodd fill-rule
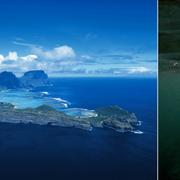
<instances>
[{"instance_id":1,"label":"left one of two distant blue mountains, cut by picture edge","mask_svg":"<svg viewBox=\"0 0 180 180\"><path fill-rule=\"evenodd\" d=\"M16 88L20 88L20 81L12 72L4 71L0 73L0 89Z\"/></svg>"}]
</instances>

